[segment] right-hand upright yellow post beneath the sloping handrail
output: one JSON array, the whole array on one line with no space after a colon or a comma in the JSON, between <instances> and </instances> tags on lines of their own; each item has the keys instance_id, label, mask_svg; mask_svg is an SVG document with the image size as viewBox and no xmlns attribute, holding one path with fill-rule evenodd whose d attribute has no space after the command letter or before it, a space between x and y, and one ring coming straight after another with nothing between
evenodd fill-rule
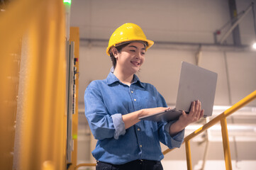
<instances>
[{"instance_id":1,"label":"right-hand upright yellow post beneath the sloping handrail","mask_svg":"<svg viewBox=\"0 0 256 170\"><path fill-rule=\"evenodd\" d=\"M232 170L230 147L229 147L229 140L228 140L228 127L227 127L226 118L221 119L221 132L222 132L223 151L224 151L226 169Z\"/></svg>"}]
</instances>

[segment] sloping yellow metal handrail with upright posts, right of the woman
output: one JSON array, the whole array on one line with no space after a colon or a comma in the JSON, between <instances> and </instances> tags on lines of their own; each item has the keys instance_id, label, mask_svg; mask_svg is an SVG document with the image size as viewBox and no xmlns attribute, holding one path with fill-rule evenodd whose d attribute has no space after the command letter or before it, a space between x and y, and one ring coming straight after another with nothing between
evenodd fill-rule
<instances>
[{"instance_id":1,"label":"sloping yellow metal handrail with upright posts, right of the woman","mask_svg":"<svg viewBox=\"0 0 256 170\"><path fill-rule=\"evenodd\" d=\"M195 130L190 135L188 135L187 137L184 138L183 143L186 143L186 145L188 145L188 146L186 146L186 152L188 152L187 153L187 162L190 162L190 164L187 163L187 169L192 169L191 168L191 157L190 157L191 153L190 153L190 147L189 147L189 140L191 140L193 137L196 137L197 135L201 134L201 132L204 132L208 128L211 128L213 125L215 125L219 121L221 121L221 132L222 132L222 137L223 137L223 149L224 149L226 169L232 169L226 117L228 117L235 111L238 111L238 109L242 108L247 103L250 103L251 101L255 100L255 98L256 98L256 91L253 91L251 94L249 94L242 100L238 101L238 103L235 103L233 106L228 108L226 111L224 111L220 115L216 116L216 118L213 118L213 120L206 123L204 126ZM166 149L162 153L167 154L168 152L170 152L172 150L173 149Z\"/></svg>"}]
</instances>

